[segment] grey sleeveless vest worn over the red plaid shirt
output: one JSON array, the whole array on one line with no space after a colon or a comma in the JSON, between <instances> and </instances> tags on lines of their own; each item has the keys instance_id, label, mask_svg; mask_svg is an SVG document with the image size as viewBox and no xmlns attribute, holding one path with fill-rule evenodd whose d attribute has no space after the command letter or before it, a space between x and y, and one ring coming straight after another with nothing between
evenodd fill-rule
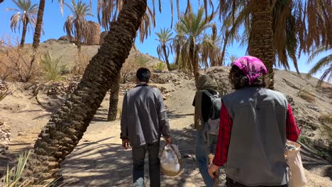
<instances>
[{"instance_id":1,"label":"grey sleeveless vest worn over the red plaid shirt","mask_svg":"<svg viewBox=\"0 0 332 187\"><path fill-rule=\"evenodd\" d=\"M226 176L246 186L286 184L286 97L277 91L248 87L222 100L233 119Z\"/></svg>"}]
</instances>

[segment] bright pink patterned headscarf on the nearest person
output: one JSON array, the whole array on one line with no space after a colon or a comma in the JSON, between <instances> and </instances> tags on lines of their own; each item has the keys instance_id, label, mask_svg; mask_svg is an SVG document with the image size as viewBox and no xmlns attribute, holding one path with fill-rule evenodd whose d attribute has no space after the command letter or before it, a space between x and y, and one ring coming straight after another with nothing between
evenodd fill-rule
<instances>
[{"instance_id":1,"label":"bright pink patterned headscarf on the nearest person","mask_svg":"<svg viewBox=\"0 0 332 187\"><path fill-rule=\"evenodd\" d=\"M256 57L244 56L235 60L232 66L237 66L248 77L249 84L253 84L257 77L262 74L267 74L267 69L262 62Z\"/></svg>"}]
</instances>

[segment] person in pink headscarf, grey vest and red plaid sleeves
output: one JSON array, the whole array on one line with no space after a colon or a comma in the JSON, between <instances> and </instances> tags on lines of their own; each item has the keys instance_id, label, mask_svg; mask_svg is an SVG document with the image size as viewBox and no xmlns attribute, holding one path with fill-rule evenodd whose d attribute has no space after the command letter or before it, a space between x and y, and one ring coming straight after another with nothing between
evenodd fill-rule
<instances>
[{"instance_id":1,"label":"person in pink headscarf, grey vest and red plaid sleeves","mask_svg":"<svg viewBox=\"0 0 332 187\"><path fill-rule=\"evenodd\" d=\"M209 174L226 163L231 187L288 186L286 139L301 130L284 94L265 89L267 69L256 57L233 62L228 78L235 92L222 98L216 156Z\"/></svg>"}]
</instances>

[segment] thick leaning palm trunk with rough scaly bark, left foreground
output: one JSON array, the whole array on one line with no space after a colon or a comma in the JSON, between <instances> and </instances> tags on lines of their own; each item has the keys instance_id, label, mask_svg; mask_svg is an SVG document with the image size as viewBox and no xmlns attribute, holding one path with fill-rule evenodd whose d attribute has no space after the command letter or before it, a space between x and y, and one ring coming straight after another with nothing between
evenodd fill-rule
<instances>
[{"instance_id":1,"label":"thick leaning palm trunk with rough scaly bark, left foreground","mask_svg":"<svg viewBox=\"0 0 332 187\"><path fill-rule=\"evenodd\" d=\"M111 23L104 44L85 69L77 89L40 132L24 178L38 176L36 181L52 178L60 163L82 139L129 55L146 6L146 0L128 1L123 6L118 20Z\"/></svg>"}]
</instances>

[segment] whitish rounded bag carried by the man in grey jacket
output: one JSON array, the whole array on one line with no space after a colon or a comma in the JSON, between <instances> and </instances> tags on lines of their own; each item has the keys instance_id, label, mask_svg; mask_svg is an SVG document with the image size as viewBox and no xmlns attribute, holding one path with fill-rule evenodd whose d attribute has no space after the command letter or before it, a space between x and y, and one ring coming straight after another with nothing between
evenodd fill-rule
<instances>
[{"instance_id":1,"label":"whitish rounded bag carried by the man in grey jacket","mask_svg":"<svg viewBox=\"0 0 332 187\"><path fill-rule=\"evenodd\" d=\"M181 156L176 145L165 145L160 152L160 167L167 176L176 176L181 171Z\"/></svg>"}]
</instances>

